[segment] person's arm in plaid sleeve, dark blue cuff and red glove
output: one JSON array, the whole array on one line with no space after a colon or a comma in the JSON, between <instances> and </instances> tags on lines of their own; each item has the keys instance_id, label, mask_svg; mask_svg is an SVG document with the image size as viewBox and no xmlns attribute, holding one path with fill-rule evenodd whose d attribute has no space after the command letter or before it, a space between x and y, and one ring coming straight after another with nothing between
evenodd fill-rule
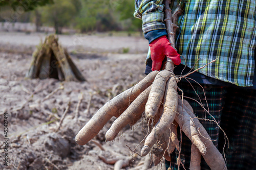
<instances>
[{"instance_id":1,"label":"person's arm in plaid sleeve, dark blue cuff and red glove","mask_svg":"<svg viewBox=\"0 0 256 170\"><path fill-rule=\"evenodd\" d=\"M163 8L162 1L135 0L134 16L142 19L142 31L151 46L153 71L160 70L165 56L172 59L174 64L180 64L180 55L166 37Z\"/></svg>"}]
</instances>

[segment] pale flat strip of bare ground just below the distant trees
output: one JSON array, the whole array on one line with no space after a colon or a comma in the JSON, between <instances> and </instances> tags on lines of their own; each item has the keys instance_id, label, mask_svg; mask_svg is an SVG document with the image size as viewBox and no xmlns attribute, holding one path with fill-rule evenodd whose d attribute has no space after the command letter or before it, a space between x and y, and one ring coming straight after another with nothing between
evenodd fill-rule
<instances>
[{"instance_id":1,"label":"pale flat strip of bare ground just below the distant trees","mask_svg":"<svg viewBox=\"0 0 256 170\"><path fill-rule=\"evenodd\" d=\"M35 46L44 41L44 33L9 33L0 32L0 50L23 51L24 48L34 50ZM107 34L93 35L58 35L59 42L68 48L69 52L77 53L147 53L148 42L144 37L108 36Z\"/></svg>"}]
</instances>

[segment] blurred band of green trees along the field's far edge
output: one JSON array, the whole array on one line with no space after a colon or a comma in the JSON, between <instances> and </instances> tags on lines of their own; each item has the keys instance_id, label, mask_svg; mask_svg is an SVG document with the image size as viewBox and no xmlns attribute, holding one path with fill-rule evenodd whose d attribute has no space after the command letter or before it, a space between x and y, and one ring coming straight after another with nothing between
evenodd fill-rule
<instances>
[{"instance_id":1,"label":"blurred band of green trees along the field's far edge","mask_svg":"<svg viewBox=\"0 0 256 170\"><path fill-rule=\"evenodd\" d=\"M56 34L123 31L141 33L129 0L0 1L0 30ZM111 34L111 33L110 33Z\"/></svg>"}]
</instances>

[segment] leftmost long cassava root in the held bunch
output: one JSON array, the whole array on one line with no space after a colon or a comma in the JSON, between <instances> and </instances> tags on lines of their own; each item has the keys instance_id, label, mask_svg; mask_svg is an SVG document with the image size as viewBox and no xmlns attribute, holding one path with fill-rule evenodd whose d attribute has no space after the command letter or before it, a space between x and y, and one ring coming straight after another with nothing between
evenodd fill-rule
<instances>
[{"instance_id":1,"label":"leftmost long cassava root in the held bunch","mask_svg":"<svg viewBox=\"0 0 256 170\"><path fill-rule=\"evenodd\" d=\"M86 144L99 133L106 122L113 116L118 117L129 106L131 101L134 101L142 91L152 84L158 72L159 71L151 72L132 88L120 93L101 107L78 132L75 137L76 143L80 145Z\"/></svg>"}]
</instances>

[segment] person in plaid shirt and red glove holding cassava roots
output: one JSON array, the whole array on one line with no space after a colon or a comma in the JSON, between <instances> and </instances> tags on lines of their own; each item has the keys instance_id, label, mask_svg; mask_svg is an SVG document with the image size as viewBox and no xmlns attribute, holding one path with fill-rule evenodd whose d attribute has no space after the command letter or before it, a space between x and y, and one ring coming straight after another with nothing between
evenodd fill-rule
<instances>
[{"instance_id":1,"label":"person in plaid shirt and red glove holding cassava roots","mask_svg":"<svg viewBox=\"0 0 256 170\"><path fill-rule=\"evenodd\" d=\"M142 30L150 44L145 74L160 70L165 55L177 65L174 69L176 76L185 75L191 68L200 68L216 59L216 62L191 74L187 79L181 79L178 86L185 96L197 101L200 98L204 108L209 110L227 135L228 141L215 122L200 120L212 142L225 154L227 168L254 169L256 1L184 1L176 33L178 53L166 38L162 3L157 0L135 1L134 16L142 19ZM199 118L212 120L196 101L186 100ZM189 169L190 147L190 140L182 134L181 162L186 169ZM175 150L172 162L165 161L166 169L169 166L178 168L177 156L178 151ZM201 169L209 169L203 158Z\"/></svg>"}]
</instances>

